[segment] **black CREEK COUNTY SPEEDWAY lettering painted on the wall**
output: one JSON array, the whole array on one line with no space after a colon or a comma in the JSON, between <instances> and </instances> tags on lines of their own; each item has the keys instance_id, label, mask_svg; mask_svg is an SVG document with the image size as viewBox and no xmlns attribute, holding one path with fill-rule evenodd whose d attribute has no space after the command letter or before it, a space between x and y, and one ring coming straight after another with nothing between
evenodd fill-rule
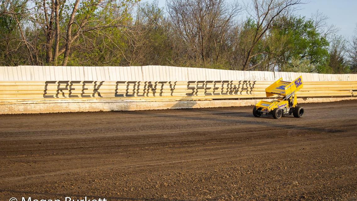
<instances>
[{"instance_id":1,"label":"black CREEK COUNTY SPEEDWAY lettering painted on the wall","mask_svg":"<svg viewBox=\"0 0 357 201\"><path fill-rule=\"evenodd\" d=\"M93 92L87 93L85 90L88 90L86 88L86 84L92 84L94 82L94 88ZM99 82L99 83L97 83ZM149 96L149 92L152 92L152 95L155 97L156 92L157 92L157 85L160 84L160 94L159 96L169 96L164 95L164 86L165 84L169 83L170 86L170 96L173 96L174 90L176 89L176 84L177 81L155 81L155 83L151 81L145 81L144 82L144 89L142 89L142 82L144 81L117 81L116 86L115 86L115 97L142 97L142 96ZM75 91L75 84L80 84L81 81L46 81L45 82L45 89L44 89L44 98L54 98L54 95L48 95L48 87L51 84L57 84L57 91L56 91L56 98L59 97L59 94L62 94L62 97L66 97L65 91L68 90L69 98L74 98L74 97L79 97L79 95L74 95L78 94ZM81 97L95 97L97 94L97 97L102 97L101 93L99 92L100 87L103 85L104 81L83 81L82 82L82 93ZM254 86L256 84L256 81L237 81L234 82L235 85L233 84L233 81L228 81L228 80L223 80L223 81L188 81L187 82L187 91L186 96L198 96L204 94L205 96L211 96L211 95L238 95L238 92L240 92L240 95L245 92L246 94L252 94L252 91L254 89ZM120 84L126 84L126 93L119 94L119 85ZM212 86L208 86L208 85ZM87 86L88 87L88 86ZM132 87L132 88L131 88ZM79 89L77 89L79 90ZM143 90L143 92L141 92ZM167 89L168 90L168 89ZM201 91L200 91L201 90ZM210 92L212 90L212 92ZM200 93L199 93L200 92ZM204 93L202 93L204 92ZM91 95L90 95L91 94ZM151 95L150 95L151 96Z\"/></svg>"}]
</instances>

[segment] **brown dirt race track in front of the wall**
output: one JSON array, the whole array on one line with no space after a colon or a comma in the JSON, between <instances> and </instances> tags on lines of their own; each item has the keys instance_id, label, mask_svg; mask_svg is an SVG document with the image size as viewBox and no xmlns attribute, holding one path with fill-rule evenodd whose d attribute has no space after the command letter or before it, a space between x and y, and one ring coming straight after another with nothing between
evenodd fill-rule
<instances>
[{"instance_id":1,"label":"brown dirt race track in front of the wall","mask_svg":"<svg viewBox=\"0 0 357 201\"><path fill-rule=\"evenodd\" d=\"M0 200L356 201L357 101L302 106L2 115Z\"/></svg>"}]
</instances>

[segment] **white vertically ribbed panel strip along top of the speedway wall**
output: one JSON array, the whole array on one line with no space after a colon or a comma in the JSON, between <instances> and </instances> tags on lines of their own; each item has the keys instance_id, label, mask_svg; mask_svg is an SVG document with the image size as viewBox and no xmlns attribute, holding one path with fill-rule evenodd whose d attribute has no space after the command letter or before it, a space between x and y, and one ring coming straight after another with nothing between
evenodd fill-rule
<instances>
[{"instance_id":1,"label":"white vertically ribbed panel strip along top of the speedway wall","mask_svg":"<svg viewBox=\"0 0 357 201\"><path fill-rule=\"evenodd\" d=\"M305 81L356 81L357 74L233 71L176 66L0 66L0 81L286 81L302 75Z\"/></svg>"}]
</instances>

